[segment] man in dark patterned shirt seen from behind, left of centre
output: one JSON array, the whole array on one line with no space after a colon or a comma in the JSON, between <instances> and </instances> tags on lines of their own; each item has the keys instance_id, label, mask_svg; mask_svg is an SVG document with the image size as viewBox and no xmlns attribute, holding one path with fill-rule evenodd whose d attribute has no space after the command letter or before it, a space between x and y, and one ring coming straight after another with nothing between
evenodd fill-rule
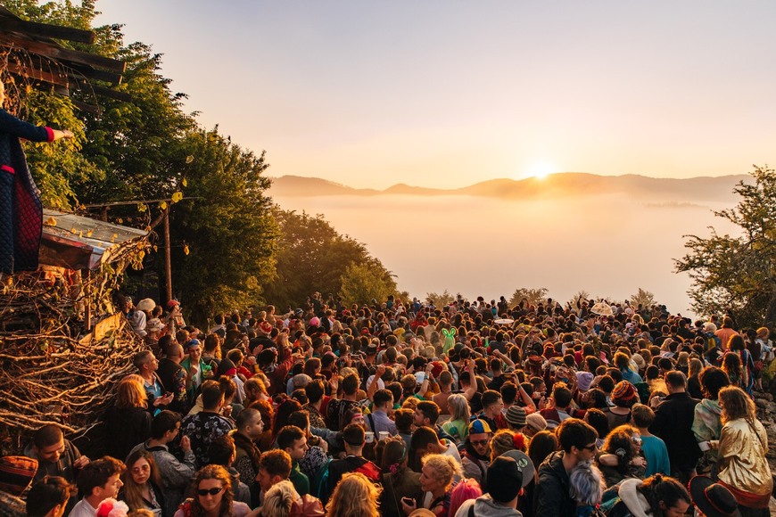
<instances>
[{"instance_id":1,"label":"man in dark patterned shirt seen from behind, left of centre","mask_svg":"<svg viewBox=\"0 0 776 517\"><path fill-rule=\"evenodd\" d=\"M224 405L224 394L219 383L202 382L202 411L189 414L181 423L181 433L191 439L192 450L197 458L197 468L210 463L208 447L214 439L235 429L232 421L220 414Z\"/></svg>"}]
</instances>

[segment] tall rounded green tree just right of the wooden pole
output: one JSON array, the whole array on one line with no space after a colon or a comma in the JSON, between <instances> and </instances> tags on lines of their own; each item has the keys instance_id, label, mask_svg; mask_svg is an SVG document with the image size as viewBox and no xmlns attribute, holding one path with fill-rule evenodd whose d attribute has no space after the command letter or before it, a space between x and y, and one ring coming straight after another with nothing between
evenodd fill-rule
<instances>
[{"instance_id":1,"label":"tall rounded green tree just right of the wooden pole","mask_svg":"<svg viewBox=\"0 0 776 517\"><path fill-rule=\"evenodd\" d=\"M258 304L275 268L277 226L265 195L268 167L217 130L193 131L182 143L177 170L186 170L186 196L170 211L173 279L192 316ZM186 165L187 156L194 160Z\"/></svg>"}]
</instances>

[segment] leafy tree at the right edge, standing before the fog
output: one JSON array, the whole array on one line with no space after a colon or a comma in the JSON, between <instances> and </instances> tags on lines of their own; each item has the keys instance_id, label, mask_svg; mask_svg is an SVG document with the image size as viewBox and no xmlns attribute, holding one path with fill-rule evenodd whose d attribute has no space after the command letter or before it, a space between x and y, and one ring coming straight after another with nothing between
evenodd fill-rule
<instances>
[{"instance_id":1,"label":"leafy tree at the right edge, standing before the fog","mask_svg":"<svg viewBox=\"0 0 776 517\"><path fill-rule=\"evenodd\" d=\"M741 197L732 209L714 211L739 226L738 236L686 235L686 255L676 271L692 280L688 294L700 315L732 310L741 325L776 324L776 171L754 166L754 184L733 189Z\"/></svg>"}]
</instances>

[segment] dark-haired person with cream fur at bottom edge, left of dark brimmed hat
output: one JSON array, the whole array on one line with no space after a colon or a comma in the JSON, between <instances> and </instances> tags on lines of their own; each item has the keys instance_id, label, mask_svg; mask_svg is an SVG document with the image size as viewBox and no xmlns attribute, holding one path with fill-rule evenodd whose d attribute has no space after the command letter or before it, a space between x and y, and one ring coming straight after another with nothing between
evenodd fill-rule
<instances>
[{"instance_id":1,"label":"dark-haired person with cream fur at bottom edge, left of dark brimmed hat","mask_svg":"<svg viewBox=\"0 0 776 517\"><path fill-rule=\"evenodd\" d=\"M628 515L663 515L683 517L688 512L691 499L684 485L674 478L656 474L646 480L624 480L617 488L616 501L611 517Z\"/></svg>"}]
</instances>

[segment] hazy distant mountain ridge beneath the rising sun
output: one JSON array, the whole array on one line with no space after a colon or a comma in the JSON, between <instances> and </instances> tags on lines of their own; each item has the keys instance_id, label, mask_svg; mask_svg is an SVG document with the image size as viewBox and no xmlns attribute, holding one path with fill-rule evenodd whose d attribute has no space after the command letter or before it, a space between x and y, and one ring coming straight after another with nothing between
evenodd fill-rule
<instances>
[{"instance_id":1,"label":"hazy distant mountain ridge beneath the rising sun","mask_svg":"<svg viewBox=\"0 0 776 517\"><path fill-rule=\"evenodd\" d=\"M491 179L456 189L435 189L405 184L385 190L355 189L319 177L280 176L272 179L270 195L277 197L317 197L341 195L469 195L502 199L623 194L636 201L727 201L733 187L751 176L699 176L685 179L637 175L599 176L563 172L542 179Z\"/></svg>"}]
</instances>

